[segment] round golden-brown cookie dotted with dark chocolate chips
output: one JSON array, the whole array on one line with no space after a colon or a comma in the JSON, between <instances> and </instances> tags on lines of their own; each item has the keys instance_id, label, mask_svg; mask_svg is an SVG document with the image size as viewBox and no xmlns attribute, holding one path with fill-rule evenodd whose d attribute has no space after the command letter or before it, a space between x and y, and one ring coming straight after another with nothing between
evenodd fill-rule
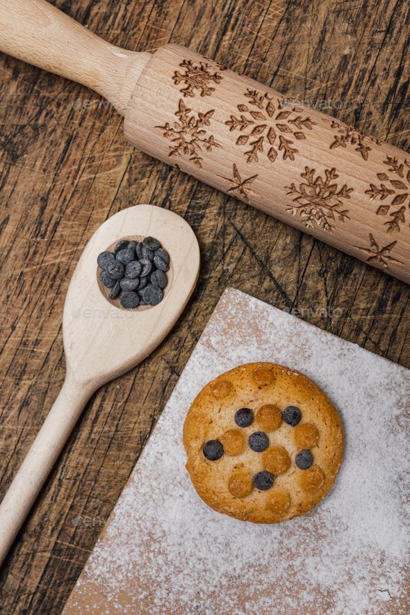
<instances>
[{"instance_id":1,"label":"round golden-brown cookie dotted with dark chocolate chips","mask_svg":"<svg viewBox=\"0 0 410 615\"><path fill-rule=\"evenodd\" d=\"M343 458L341 418L317 384L273 363L249 363L207 384L183 425L200 498L253 523L304 514L325 497Z\"/></svg>"}]
</instances>

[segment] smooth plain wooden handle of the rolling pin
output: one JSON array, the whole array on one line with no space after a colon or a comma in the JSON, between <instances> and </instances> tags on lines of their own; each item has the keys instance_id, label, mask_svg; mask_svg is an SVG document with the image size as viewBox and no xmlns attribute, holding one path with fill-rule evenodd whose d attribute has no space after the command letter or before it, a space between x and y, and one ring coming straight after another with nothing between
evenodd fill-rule
<instances>
[{"instance_id":1,"label":"smooth plain wooden handle of the rolling pin","mask_svg":"<svg viewBox=\"0 0 410 615\"><path fill-rule=\"evenodd\" d=\"M122 115L151 58L115 47L45 0L1 0L0 51L86 85Z\"/></svg>"}]
</instances>

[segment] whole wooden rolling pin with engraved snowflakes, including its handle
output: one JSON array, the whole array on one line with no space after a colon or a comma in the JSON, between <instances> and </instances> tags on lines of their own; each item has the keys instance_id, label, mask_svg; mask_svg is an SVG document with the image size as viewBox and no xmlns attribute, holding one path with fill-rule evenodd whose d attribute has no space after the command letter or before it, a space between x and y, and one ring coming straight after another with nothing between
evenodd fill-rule
<instances>
[{"instance_id":1,"label":"whole wooden rolling pin with engraved snowflakes, including its handle","mask_svg":"<svg viewBox=\"0 0 410 615\"><path fill-rule=\"evenodd\" d=\"M126 138L410 282L410 155L179 45L115 47L44 0L1 0L0 50L78 81Z\"/></svg>"}]
</instances>

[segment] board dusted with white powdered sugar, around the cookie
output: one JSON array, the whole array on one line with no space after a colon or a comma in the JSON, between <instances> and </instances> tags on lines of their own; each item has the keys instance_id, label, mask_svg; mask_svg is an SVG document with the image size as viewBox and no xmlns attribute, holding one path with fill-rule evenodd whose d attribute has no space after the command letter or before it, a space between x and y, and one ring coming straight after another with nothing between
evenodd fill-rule
<instances>
[{"instance_id":1,"label":"board dusted with white powdered sugar, around the cookie","mask_svg":"<svg viewBox=\"0 0 410 615\"><path fill-rule=\"evenodd\" d=\"M184 468L182 425L193 398L249 361L306 373L345 425L334 489L313 511L279 525L209 509ZM408 370L225 291L66 612L404 612L409 400Z\"/></svg>"}]
</instances>

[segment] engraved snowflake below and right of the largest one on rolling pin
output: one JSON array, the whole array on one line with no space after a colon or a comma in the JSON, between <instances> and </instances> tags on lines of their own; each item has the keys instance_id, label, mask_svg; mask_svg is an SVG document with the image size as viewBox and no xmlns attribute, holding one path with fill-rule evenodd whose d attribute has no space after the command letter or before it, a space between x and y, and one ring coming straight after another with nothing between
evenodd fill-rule
<instances>
[{"instance_id":1,"label":"engraved snowflake below and right of the largest one on rolling pin","mask_svg":"<svg viewBox=\"0 0 410 615\"><path fill-rule=\"evenodd\" d=\"M306 181L300 183L299 188L293 183L285 186L288 190L287 195L293 198L293 205L286 211L292 215L300 215L305 227L322 227L324 231L333 233L336 220L350 220L349 210L345 209L342 199L350 199L350 192L353 188L347 188L344 184L338 188L334 181L338 179L335 168L325 170L325 179L320 175L315 178L315 169L305 167L304 173L300 174Z\"/></svg>"}]
</instances>

